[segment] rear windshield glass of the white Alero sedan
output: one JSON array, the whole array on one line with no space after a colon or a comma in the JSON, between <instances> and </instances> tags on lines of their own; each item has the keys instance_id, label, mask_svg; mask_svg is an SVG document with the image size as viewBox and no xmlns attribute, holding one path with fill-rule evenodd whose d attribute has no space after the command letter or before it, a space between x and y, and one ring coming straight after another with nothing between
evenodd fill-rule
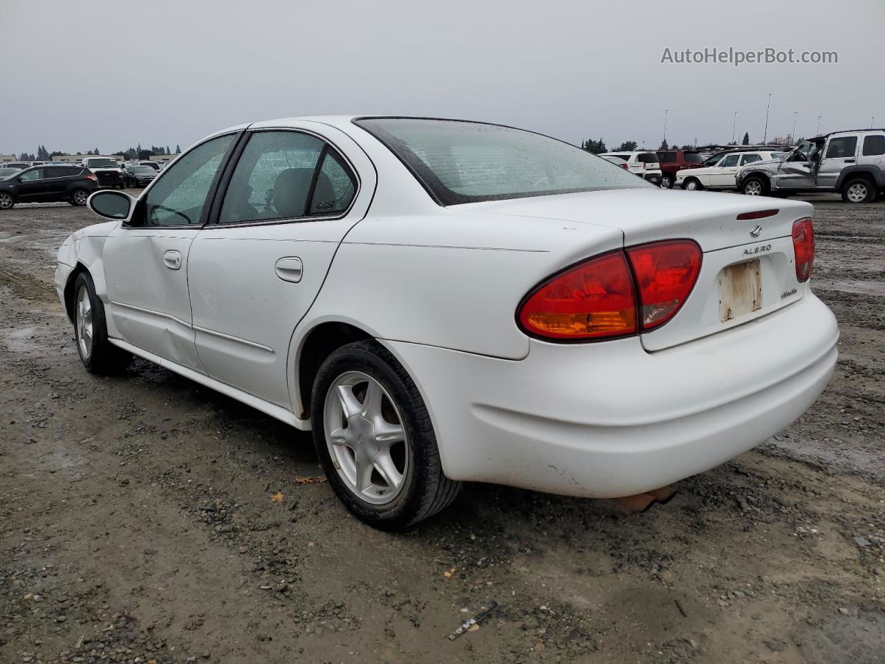
<instances>
[{"instance_id":1,"label":"rear windshield glass of the white Alero sedan","mask_svg":"<svg viewBox=\"0 0 885 664\"><path fill-rule=\"evenodd\" d=\"M441 205L650 187L588 151L532 132L458 120L355 120Z\"/></svg>"}]
</instances>

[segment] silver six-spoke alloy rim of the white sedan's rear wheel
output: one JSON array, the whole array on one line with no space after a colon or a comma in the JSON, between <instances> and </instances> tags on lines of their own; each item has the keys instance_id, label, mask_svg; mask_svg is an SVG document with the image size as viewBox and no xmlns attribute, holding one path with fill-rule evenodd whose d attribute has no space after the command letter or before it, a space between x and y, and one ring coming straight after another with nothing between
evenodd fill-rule
<instances>
[{"instance_id":1,"label":"silver six-spoke alloy rim of the white sedan's rear wheel","mask_svg":"<svg viewBox=\"0 0 885 664\"><path fill-rule=\"evenodd\" d=\"M402 490L411 455L403 419L372 376L349 371L329 386L324 430L335 472L358 498L387 505Z\"/></svg>"}]
</instances>

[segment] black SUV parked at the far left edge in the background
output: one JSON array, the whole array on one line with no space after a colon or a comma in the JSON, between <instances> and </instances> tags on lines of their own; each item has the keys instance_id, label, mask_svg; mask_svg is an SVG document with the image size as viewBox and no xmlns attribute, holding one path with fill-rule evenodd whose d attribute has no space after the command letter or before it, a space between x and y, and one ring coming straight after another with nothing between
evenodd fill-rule
<instances>
[{"instance_id":1,"label":"black SUV parked at the far left edge in the background","mask_svg":"<svg viewBox=\"0 0 885 664\"><path fill-rule=\"evenodd\" d=\"M32 166L0 180L0 210L16 203L86 205L98 189L96 174L83 166Z\"/></svg>"}]
</instances>

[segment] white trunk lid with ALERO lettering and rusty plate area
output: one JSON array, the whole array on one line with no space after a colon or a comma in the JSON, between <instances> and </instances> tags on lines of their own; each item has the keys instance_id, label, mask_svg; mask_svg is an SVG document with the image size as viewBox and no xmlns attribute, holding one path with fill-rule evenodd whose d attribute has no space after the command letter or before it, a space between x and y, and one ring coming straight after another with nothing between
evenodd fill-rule
<instances>
[{"instance_id":1,"label":"white trunk lid with ALERO lettering and rusty plate area","mask_svg":"<svg viewBox=\"0 0 885 664\"><path fill-rule=\"evenodd\" d=\"M793 222L812 206L709 192L617 189L476 204L485 212L618 228L624 246L694 240L703 251L694 289L672 320L641 336L647 351L716 334L797 301ZM589 258L589 257L588 257Z\"/></svg>"}]
</instances>

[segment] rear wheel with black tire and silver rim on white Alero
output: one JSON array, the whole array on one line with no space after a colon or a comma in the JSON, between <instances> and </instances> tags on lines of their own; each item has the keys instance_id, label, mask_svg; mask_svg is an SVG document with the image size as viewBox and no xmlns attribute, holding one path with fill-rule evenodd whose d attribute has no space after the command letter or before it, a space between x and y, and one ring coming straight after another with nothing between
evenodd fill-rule
<instances>
[{"instance_id":1,"label":"rear wheel with black tire and silver rim on white Alero","mask_svg":"<svg viewBox=\"0 0 885 664\"><path fill-rule=\"evenodd\" d=\"M458 495L460 483L443 475L424 400L381 344L347 344L323 362L311 419L329 485L373 528L408 528Z\"/></svg>"}]
</instances>

